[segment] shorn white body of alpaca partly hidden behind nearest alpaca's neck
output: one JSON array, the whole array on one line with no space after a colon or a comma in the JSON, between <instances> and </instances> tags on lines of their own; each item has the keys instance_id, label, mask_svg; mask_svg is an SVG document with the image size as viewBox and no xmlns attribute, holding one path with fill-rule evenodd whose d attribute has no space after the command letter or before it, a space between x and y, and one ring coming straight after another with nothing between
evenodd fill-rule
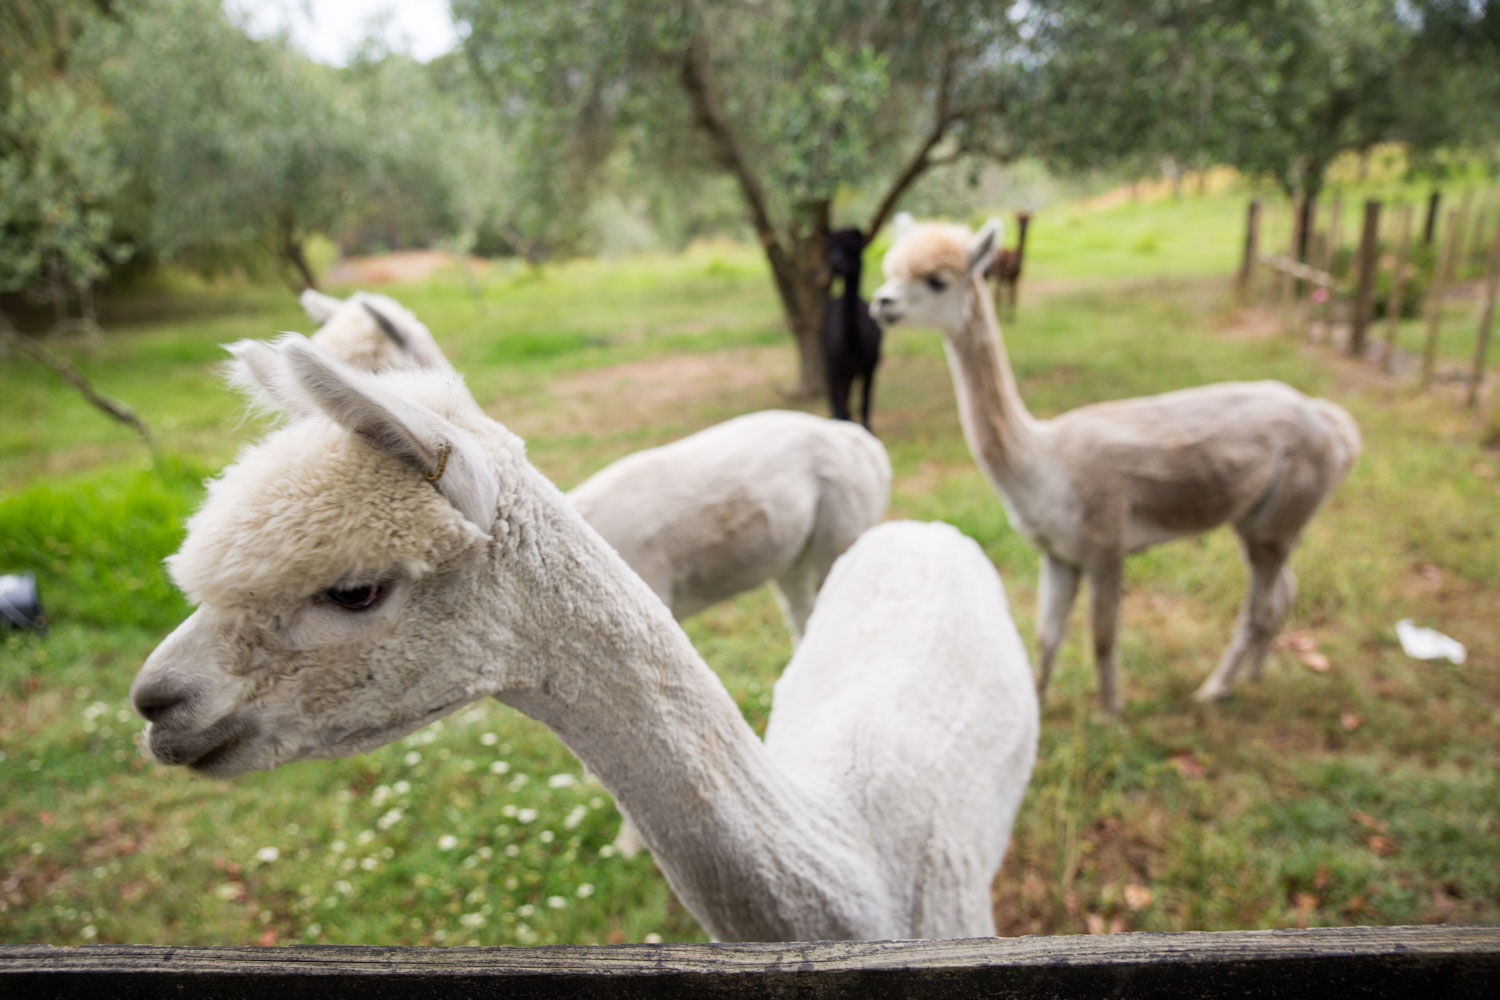
<instances>
[{"instance_id":1,"label":"shorn white body of alpaca partly hidden behind nearest alpaca's neck","mask_svg":"<svg viewBox=\"0 0 1500 1000\"><path fill-rule=\"evenodd\" d=\"M770 580L795 642L890 495L868 430L766 409L627 454L567 498L678 619Z\"/></svg>"}]
</instances>

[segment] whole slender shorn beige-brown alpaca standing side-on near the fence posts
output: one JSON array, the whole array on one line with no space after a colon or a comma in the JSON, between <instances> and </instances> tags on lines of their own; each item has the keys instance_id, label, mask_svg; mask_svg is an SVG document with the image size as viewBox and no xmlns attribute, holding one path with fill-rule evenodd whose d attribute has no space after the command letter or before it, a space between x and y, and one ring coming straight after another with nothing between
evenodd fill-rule
<instances>
[{"instance_id":1,"label":"whole slender shorn beige-brown alpaca standing side-on near the fence posts","mask_svg":"<svg viewBox=\"0 0 1500 1000\"><path fill-rule=\"evenodd\" d=\"M909 219L909 216L908 216ZM1230 523L1250 568L1234 636L1197 699L1260 675L1296 592L1287 556L1359 456L1359 427L1282 382L1221 382L1080 406L1052 420L1026 411L982 274L999 222L898 232L872 313L944 334L969 451L1011 525L1042 550L1036 598L1038 690L1046 690L1078 577L1089 577L1100 697L1119 712L1114 628L1125 556Z\"/></svg>"}]
</instances>

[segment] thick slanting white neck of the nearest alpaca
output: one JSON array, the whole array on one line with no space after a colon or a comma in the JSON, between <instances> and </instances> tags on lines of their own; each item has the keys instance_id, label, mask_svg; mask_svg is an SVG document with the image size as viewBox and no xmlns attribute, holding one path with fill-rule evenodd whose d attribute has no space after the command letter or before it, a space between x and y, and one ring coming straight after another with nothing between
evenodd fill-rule
<instances>
[{"instance_id":1,"label":"thick slanting white neck of the nearest alpaca","mask_svg":"<svg viewBox=\"0 0 1500 1000\"><path fill-rule=\"evenodd\" d=\"M838 928L880 937L884 928L840 916L880 912L868 906L874 889L855 837L777 769L662 601L528 474L537 502L496 559L532 598L538 634L492 637L501 646L492 652L532 651L531 663L508 664L520 681L495 697L552 729L598 775L716 939ZM528 552L507 555L512 546Z\"/></svg>"}]
</instances>

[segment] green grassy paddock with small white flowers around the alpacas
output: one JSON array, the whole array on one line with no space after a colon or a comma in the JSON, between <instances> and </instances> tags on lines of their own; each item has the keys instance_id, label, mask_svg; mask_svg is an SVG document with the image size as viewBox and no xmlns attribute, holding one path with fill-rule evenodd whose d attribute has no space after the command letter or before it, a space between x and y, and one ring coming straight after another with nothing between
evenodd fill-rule
<instances>
[{"instance_id":1,"label":"green grassy paddock with small white flowers around the alpacas","mask_svg":"<svg viewBox=\"0 0 1500 1000\"><path fill-rule=\"evenodd\" d=\"M1095 712L1074 616L994 883L1005 934L1500 921L1500 456L1450 387L1419 394L1410 376L1234 307L1224 276L1240 213L1242 196L1222 195L1040 216L1006 328L1023 393L1050 415L1280 378L1344 403L1365 456L1293 559L1294 645L1234 700L1188 697L1242 594L1227 532L1128 564L1120 724ZM456 274L387 291L562 486L786 405L792 351L750 249L540 276L496 265L482 288L478 303ZM612 855L603 789L498 705L363 757L232 783L141 757L126 691L188 612L160 559L201 480L262 429L216 384L216 345L309 324L284 291L204 286L142 292L105 321L111 333L76 360L159 430L154 454L51 375L0 366L0 571L34 571L54 621L45 637L0 634L0 940L702 939L650 858ZM975 537L1029 636L1036 559L969 459L934 333L888 339L876 429L896 471L891 514ZM1468 661L1406 658L1400 618L1458 636ZM789 655L768 592L687 631L764 726ZM1311 652L1326 669L1306 666L1324 663Z\"/></svg>"}]
</instances>

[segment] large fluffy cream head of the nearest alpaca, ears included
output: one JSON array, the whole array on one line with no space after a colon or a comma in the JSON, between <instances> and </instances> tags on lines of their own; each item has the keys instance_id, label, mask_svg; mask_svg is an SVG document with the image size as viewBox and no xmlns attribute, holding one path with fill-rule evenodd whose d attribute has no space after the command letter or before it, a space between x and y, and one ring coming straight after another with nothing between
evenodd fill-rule
<instances>
[{"instance_id":1,"label":"large fluffy cream head of the nearest alpaca, ears included","mask_svg":"<svg viewBox=\"0 0 1500 1000\"><path fill-rule=\"evenodd\" d=\"M152 753L218 777L345 756L492 691L471 645L502 622L476 598L519 439L456 376L369 375L297 334L231 351L291 421L208 484L168 559L198 609L130 690Z\"/></svg>"}]
</instances>

